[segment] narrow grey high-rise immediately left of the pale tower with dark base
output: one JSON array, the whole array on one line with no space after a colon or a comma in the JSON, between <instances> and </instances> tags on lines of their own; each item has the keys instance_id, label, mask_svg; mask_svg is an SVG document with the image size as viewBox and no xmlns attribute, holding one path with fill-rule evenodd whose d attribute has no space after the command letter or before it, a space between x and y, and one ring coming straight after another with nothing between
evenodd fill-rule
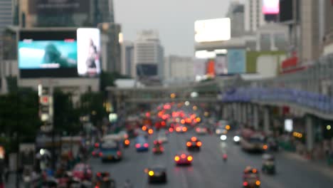
<instances>
[{"instance_id":1,"label":"narrow grey high-rise immediately left of the pale tower with dark base","mask_svg":"<svg viewBox=\"0 0 333 188\"><path fill-rule=\"evenodd\" d=\"M122 48L122 75L129 75L134 77L134 43L132 41L123 41Z\"/></svg>"}]
</instances>

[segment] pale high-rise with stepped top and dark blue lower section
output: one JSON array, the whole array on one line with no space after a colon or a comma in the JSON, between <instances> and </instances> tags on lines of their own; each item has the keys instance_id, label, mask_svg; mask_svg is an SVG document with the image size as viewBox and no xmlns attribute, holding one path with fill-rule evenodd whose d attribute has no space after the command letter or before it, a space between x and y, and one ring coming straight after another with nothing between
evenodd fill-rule
<instances>
[{"instance_id":1,"label":"pale high-rise with stepped top and dark blue lower section","mask_svg":"<svg viewBox=\"0 0 333 188\"><path fill-rule=\"evenodd\" d=\"M158 31L144 30L137 33L134 42L134 66L137 77L164 78L164 48Z\"/></svg>"}]
</instances>

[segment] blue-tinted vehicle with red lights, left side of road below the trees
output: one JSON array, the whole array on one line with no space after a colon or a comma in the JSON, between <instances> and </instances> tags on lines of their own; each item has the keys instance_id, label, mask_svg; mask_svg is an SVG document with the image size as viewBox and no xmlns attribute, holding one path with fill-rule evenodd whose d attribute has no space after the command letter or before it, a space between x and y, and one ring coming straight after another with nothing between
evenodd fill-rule
<instances>
[{"instance_id":1,"label":"blue-tinted vehicle with red lights, left side of road below the trees","mask_svg":"<svg viewBox=\"0 0 333 188\"><path fill-rule=\"evenodd\" d=\"M102 162L110 160L122 160L122 150L117 142L112 140L102 142L100 146L100 158Z\"/></svg>"}]
</instances>

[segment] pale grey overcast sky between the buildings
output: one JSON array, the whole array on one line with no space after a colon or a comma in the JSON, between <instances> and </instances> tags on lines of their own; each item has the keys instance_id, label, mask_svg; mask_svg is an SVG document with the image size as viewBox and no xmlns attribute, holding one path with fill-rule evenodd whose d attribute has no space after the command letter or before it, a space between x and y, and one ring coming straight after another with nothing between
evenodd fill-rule
<instances>
[{"instance_id":1,"label":"pale grey overcast sky between the buildings","mask_svg":"<svg viewBox=\"0 0 333 188\"><path fill-rule=\"evenodd\" d=\"M124 39L137 31L157 29L164 55L194 55L194 21L226 16L231 0L114 0L115 21Z\"/></svg>"}]
</instances>

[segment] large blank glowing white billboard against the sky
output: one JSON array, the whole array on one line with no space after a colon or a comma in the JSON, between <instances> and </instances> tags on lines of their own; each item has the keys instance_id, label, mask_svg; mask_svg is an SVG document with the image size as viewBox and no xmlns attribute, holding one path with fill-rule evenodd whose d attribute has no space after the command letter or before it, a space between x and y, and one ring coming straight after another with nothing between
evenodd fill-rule
<instances>
[{"instance_id":1,"label":"large blank glowing white billboard against the sky","mask_svg":"<svg viewBox=\"0 0 333 188\"><path fill-rule=\"evenodd\" d=\"M229 18L198 20L194 23L194 29L194 39L198 43L228 41L231 38L231 20Z\"/></svg>"}]
</instances>

